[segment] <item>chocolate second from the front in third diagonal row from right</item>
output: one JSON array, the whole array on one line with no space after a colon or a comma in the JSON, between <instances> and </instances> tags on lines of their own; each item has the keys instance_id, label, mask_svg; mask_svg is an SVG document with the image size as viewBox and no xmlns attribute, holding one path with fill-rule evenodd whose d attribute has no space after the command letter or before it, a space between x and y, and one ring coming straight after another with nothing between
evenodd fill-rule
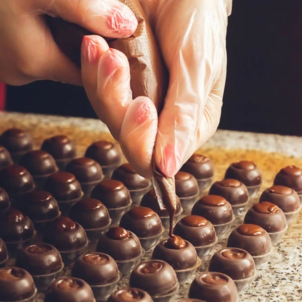
<instances>
[{"instance_id":1,"label":"chocolate second from the front in third diagonal row from right","mask_svg":"<svg viewBox=\"0 0 302 302\"><path fill-rule=\"evenodd\" d=\"M75 261L71 275L81 277L89 285L104 285L116 281L119 271L116 262L109 255L89 252Z\"/></svg>"}]
</instances>

